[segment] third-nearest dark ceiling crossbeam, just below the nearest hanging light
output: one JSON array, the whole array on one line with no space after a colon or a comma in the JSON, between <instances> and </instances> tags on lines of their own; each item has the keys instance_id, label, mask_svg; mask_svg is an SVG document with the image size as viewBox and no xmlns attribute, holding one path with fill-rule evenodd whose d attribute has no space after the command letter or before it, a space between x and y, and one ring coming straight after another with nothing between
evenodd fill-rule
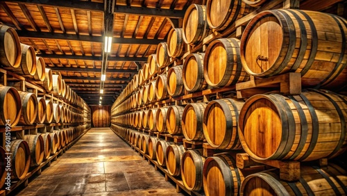
<instances>
[{"instance_id":1,"label":"third-nearest dark ceiling crossbeam, just below the nearest hanging light","mask_svg":"<svg viewBox=\"0 0 347 196\"><path fill-rule=\"evenodd\" d=\"M103 60L102 56L79 56L79 55L66 55L66 54L40 54L42 58L65 58L74 60ZM109 56L108 61L141 61L147 62L148 58L144 57L119 57Z\"/></svg>"}]
</instances>

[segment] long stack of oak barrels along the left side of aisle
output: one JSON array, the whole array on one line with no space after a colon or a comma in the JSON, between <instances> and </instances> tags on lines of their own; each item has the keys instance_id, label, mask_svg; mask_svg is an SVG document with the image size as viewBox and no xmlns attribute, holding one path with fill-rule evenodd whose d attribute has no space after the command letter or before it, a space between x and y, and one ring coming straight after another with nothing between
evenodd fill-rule
<instances>
[{"instance_id":1,"label":"long stack of oak barrels along the left side of aisle","mask_svg":"<svg viewBox=\"0 0 347 196\"><path fill-rule=\"evenodd\" d=\"M17 137L10 137L8 140L6 136L6 143L0 142L2 159L6 157L4 153L7 151L12 153L10 174L11 179L17 181L26 179L30 170L89 129L90 108L66 85L58 72L53 74L51 69L46 68L44 59L36 56L33 47L19 42L15 29L0 25L0 39L4 43L0 46L0 65L7 72L15 73L12 75L18 80L26 78L29 81L39 81L36 86L40 97L26 89L35 88L32 85L23 87L11 81L7 81L7 86L1 85L6 81L0 84L0 127L6 127L6 130L15 126L36 129L35 126L40 125L37 126L40 127L37 131L24 130L24 133L29 134L23 137L19 137L21 134L11 134ZM51 123L60 123L60 126L53 126ZM18 129L23 131L20 128L16 130ZM3 187L4 175L7 174L3 166L1 164L0 167L0 188Z\"/></svg>"}]
</instances>

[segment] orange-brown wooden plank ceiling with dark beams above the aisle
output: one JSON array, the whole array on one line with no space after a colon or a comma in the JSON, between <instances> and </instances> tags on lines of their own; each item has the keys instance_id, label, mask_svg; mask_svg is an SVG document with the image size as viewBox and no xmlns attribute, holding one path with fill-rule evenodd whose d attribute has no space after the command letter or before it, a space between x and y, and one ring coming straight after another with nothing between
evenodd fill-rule
<instances>
[{"instance_id":1,"label":"orange-brown wooden plank ceiling with dark beams above the aisle","mask_svg":"<svg viewBox=\"0 0 347 196\"><path fill-rule=\"evenodd\" d=\"M194 0L19 0L0 2L0 23L16 29L46 67L59 71L88 104L99 104L101 65L107 56L103 104L112 104L137 69L166 42ZM110 54L104 35L112 34Z\"/></svg>"}]
</instances>

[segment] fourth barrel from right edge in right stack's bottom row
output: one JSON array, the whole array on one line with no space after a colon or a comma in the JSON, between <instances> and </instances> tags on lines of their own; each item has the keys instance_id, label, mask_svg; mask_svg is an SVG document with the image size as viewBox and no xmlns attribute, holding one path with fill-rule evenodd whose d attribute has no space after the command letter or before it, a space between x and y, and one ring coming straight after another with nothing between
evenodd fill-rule
<instances>
[{"instance_id":1,"label":"fourth barrel from right edge in right stack's bottom row","mask_svg":"<svg viewBox=\"0 0 347 196\"><path fill-rule=\"evenodd\" d=\"M171 176L180 175L180 161L182 160L185 147L183 145L169 145L166 152L167 172Z\"/></svg>"}]
</instances>

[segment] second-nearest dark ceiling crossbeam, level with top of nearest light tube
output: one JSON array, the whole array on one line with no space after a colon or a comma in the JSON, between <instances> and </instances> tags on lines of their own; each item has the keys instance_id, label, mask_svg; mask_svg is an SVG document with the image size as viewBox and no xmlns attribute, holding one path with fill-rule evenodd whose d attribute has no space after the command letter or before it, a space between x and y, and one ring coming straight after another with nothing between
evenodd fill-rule
<instances>
[{"instance_id":1,"label":"second-nearest dark ceiling crossbeam, level with top of nearest light tube","mask_svg":"<svg viewBox=\"0 0 347 196\"><path fill-rule=\"evenodd\" d=\"M37 39L52 39L52 40L71 40L71 41L83 41L83 42L104 42L103 36L92 35L75 35L67 33L48 33L37 31L17 31L17 34L21 38L37 38ZM166 42L167 40L158 39L137 39L137 38L112 38L112 43L115 44L159 44L160 42Z\"/></svg>"}]
</instances>

